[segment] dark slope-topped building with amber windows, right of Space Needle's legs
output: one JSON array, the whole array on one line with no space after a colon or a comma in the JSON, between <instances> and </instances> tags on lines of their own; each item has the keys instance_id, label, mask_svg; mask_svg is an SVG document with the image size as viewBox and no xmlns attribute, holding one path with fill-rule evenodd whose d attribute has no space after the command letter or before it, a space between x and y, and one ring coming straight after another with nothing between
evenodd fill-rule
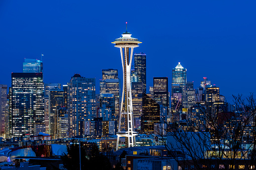
<instances>
[{"instance_id":1,"label":"dark slope-topped building with amber windows, right of Space Needle's legs","mask_svg":"<svg viewBox=\"0 0 256 170\"><path fill-rule=\"evenodd\" d=\"M145 93L142 98L141 132L150 134L154 132L154 123L160 121L160 106Z\"/></svg>"}]
</instances>

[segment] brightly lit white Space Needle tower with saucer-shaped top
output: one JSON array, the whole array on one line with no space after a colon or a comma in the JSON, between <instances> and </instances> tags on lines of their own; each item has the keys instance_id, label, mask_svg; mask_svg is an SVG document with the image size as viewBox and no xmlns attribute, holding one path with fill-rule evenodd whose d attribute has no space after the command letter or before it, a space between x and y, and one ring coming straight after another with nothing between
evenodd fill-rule
<instances>
[{"instance_id":1,"label":"brightly lit white Space Needle tower with saucer-shaped top","mask_svg":"<svg viewBox=\"0 0 256 170\"><path fill-rule=\"evenodd\" d=\"M119 126L117 132L117 150L119 146L119 138L126 137L127 147L133 147L135 145L135 136L137 132L134 131L133 112L132 112L132 93L131 93L131 64L133 48L138 47L141 43L138 39L132 38L131 33L126 32L122 34L123 37L116 39L113 44L115 47L120 48L122 66L123 66L123 93L121 109L119 114ZM124 54L123 54L124 48ZM130 56L129 56L130 48ZM122 119L125 121L122 123ZM122 127L121 127L122 126Z\"/></svg>"}]
</instances>

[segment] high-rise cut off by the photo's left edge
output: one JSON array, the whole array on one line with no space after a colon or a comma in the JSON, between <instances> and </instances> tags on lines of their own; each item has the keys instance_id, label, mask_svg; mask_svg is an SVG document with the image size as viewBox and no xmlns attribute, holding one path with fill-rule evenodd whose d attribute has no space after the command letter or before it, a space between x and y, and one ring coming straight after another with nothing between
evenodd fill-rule
<instances>
[{"instance_id":1,"label":"high-rise cut off by the photo's left edge","mask_svg":"<svg viewBox=\"0 0 256 170\"><path fill-rule=\"evenodd\" d=\"M0 136L4 136L8 110L7 85L0 84Z\"/></svg>"}]
</instances>

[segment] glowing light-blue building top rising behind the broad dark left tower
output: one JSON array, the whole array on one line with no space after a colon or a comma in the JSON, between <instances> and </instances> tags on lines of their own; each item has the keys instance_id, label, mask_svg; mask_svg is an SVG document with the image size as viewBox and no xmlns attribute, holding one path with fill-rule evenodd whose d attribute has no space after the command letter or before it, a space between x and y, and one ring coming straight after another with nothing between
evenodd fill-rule
<instances>
[{"instance_id":1,"label":"glowing light-blue building top rising behind the broad dark left tower","mask_svg":"<svg viewBox=\"0 0 256 170\"><path fill-rule=\"evenodd\" d=\"M23 73L43 73L43 62L35 59L25 59Z\"/></svg>"}]
</instances>

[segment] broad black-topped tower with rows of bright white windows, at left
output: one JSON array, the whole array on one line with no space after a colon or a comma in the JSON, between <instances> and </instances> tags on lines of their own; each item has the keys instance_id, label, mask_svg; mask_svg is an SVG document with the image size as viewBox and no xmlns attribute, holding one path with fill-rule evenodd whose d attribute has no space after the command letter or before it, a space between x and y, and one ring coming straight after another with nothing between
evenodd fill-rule
<instances>
[{"instance_id":1,"label":"broad black-topped tower with rows of bright white windows, at left","mask_svg":"<svg viewBox=\"0 0 256 170\"><path fill-rule=\"evenodd\" d=\"M11 136L45 132L42 73L12 73Z\"/></svg>"}]
</instances>

